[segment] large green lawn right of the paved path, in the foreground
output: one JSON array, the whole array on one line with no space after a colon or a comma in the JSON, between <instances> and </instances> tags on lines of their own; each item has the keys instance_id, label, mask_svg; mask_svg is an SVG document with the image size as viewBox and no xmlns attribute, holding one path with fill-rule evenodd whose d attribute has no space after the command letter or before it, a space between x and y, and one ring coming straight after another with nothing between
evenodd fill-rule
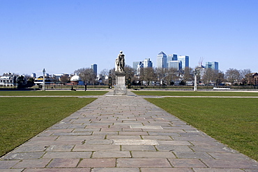
<instances>
[{"instance_id":1,"label":"large green lawn right of the paved path, in the foreground","mask_svg":"<svg viewBox=\"0 0 258 172\"><path fill-rule=\"evenodd\" d=\"M258 98L146 98L231 148L258 160Z\"/></svg>"}]
</instances>

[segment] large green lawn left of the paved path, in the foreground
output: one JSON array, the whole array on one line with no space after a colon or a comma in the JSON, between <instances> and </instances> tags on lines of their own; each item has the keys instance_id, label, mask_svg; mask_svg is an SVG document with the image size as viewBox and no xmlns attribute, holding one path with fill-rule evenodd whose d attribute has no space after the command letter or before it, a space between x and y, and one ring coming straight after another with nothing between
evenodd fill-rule
<instances>
[{"instance_id":1,"label":"large green lawn left of the paved path, in the foreground","mask_svg":"<svg viewBox=\"0 0 258 172\"><path fill-rule=\"evenodd\" d=\"M0 98L0 157L96 98Z\"/></svg>"}]
</instances>

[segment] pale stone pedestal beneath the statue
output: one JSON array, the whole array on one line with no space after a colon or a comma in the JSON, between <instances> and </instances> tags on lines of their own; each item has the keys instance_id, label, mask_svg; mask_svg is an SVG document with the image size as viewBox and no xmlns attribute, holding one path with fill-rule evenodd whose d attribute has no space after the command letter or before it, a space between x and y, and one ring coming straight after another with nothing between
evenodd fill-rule
<instances>
[{"instance_id":1,"label":"pale stone pedestal beneath the statue","mask_svg":"<svg viewBox=\"0 0 258 172\"><path fill-rule=\"evenodd\" d=\"M127 95L126 88L126 72L116 72L116 86L114 87L114 95Z\"/></svg>"}]
</instances>

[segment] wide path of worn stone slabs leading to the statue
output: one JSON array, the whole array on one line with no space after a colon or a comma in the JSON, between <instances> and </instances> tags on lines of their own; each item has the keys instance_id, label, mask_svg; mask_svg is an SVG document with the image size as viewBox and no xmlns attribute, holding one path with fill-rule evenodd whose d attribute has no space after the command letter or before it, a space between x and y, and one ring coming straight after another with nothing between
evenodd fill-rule
<instances>
[{"instance_id":1,"label":"wide path of worn stone slabs leading to the statue","mask_svg":"<svg viewBox=\"0 0 258 172\"><path fill-rule=\"evenodd\" d=\"M111 94L1 157L0 171L258 171L254 160L144 98Z\"/></svg>"}]
</instances>

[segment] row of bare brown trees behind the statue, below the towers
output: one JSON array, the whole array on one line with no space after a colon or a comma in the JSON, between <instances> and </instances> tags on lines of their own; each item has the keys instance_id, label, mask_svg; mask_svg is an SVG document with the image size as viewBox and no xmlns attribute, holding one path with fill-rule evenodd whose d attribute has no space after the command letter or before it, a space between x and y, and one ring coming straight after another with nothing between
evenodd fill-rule
<instances>
[{"instance_id":1,"label":"row of bare brown trees behind the statue, below the towers","mask_svg":"<svg viewBox=\"0 0 258 172\"><path fill-rule=\"evenodd\" d=\"M248 74L250 69L233 69L229 68L224 73L220 70L185 67L177 70L174 68L140 68L138 71L126 65L126 78L131 78L132 85L190 85L197 74L197 83L202 85L222 85L222 83L231 83L232 85L248 85ZM82 68L75 70L84 83L93 84L96 82L96 74L91 68ZM108 84L105 76L112 78L115 84L115 71L113 69L103 69L100 71L99 78L102 83Z\"/></svg>"}]
</instances>

